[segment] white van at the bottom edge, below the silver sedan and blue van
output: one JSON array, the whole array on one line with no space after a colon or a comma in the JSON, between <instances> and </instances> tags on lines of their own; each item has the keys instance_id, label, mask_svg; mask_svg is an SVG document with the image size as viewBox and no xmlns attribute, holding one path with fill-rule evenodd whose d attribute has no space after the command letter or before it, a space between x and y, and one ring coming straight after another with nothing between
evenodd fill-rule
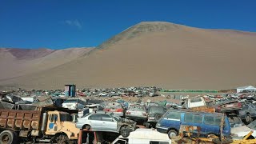
<instances>
[{"instance_id":1,"label":"white van at the bottom edge, below the silver sedan and blue van","mask_svg":"<svg viewBox=\"0 0 256 144\"><path fill-rule=\"evenodd\" d=\"M153 129L137 129L130 132L127 138L121 135L111 144L171 144L167 134L159 133Z\"/></svg>"}]
</instances>

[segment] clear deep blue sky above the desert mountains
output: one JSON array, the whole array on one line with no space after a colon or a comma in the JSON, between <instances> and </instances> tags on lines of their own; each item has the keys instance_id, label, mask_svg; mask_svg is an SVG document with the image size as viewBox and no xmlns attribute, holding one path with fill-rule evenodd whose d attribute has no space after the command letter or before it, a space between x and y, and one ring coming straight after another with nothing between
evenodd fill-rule
<instances>
[{"instance_id":1,"label":"clear deep blue sky above the desert mountains","mask_svg":"<svg viewBox=\"0 0 256 144\"><path fill-rule=\"evenodd\" d=\"M145 21L256 32L256 1L0 0L0 47L98 46Z\"/></svg>"}]
</instances>

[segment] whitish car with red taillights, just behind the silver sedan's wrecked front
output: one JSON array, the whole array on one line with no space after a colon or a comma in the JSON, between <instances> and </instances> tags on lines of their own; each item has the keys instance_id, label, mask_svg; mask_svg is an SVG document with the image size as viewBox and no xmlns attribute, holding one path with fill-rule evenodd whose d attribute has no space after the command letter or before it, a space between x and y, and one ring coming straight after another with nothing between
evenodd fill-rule
<instances>
[{"instance_id":1,"label":"whitish car with red taillights, just behind the silver sedan's wrecked front","mask_svg":"<svg viewBox=\"0 0 256 144\"><path fill-rule=\"evenodd\" d=\"M130 105L126 110L126 118L145 122L147 120L146 107L137 104Z\"/></svg>"}]
</instances>

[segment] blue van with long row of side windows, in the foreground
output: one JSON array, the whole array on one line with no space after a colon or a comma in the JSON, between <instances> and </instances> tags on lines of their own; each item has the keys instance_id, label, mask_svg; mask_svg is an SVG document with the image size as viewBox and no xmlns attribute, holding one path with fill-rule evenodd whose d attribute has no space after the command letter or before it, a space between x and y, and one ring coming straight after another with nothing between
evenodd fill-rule
<instances>
[{"instance_id":1,"label":"blue van with long row of side windows, in the foreground","mask_svg":"<svg viewBox=\"0 0 256 144\"><path fill-rule=\"evenodd\" d=\"M220 113L202 113L189 110L168 110L166 114L159 119L156 129L161 133L168 134L169 138L178 136L181 125L198 126L201 128L200 136L207 138L214 134L220 135L220 125L223 114ZM230 137L230 122L224 117L224 126L222 134Z\"/></svg>"}]
</instances>

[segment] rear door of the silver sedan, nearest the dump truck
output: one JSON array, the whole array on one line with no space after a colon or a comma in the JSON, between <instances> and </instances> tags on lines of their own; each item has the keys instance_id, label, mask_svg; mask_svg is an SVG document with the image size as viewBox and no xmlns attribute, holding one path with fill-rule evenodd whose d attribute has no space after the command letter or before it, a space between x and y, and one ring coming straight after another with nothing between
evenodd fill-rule
<instances>
[{"instance_id":1,"label":"rear door of the silver sedan, nearest the dump truck","mask_svg":"<svg viewBox=\"0 0 256 144\"><path fill-rule=\"evenodd\" d=\"M92 130L102 130L102 114L91 114L88 120Z\"/></svg>"}]
</instances>

